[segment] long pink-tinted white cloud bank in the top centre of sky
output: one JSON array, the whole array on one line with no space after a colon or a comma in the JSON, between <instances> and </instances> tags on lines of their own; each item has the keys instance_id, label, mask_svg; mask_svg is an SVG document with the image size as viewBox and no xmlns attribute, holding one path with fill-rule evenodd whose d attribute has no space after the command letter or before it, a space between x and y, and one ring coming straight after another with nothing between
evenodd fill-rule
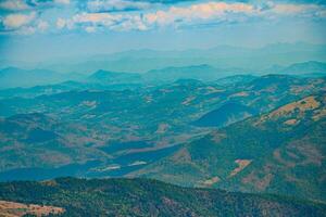
<instances>
[{"instance_id":1,"label":"long pink-tinted white cloud bank in the top centre of sky","mask_svg":"<svg viewBox=\"0 0 326 217\"><path fill-rule=\"evenodd\" d=\"M112 30L148 30L155 25L166 26L180 22L191 23L213 18L224 18L223 16L227 15L228 13L251 14L254 12L254 10L255 9L252 5L244 3L208 2L184 8L171 7L166 11L160 10L143 14L79 13L65 22L58 20L57 26L60 28L64 26L68 28L84 26L86 31L93 31L98 27L106 27Z\"/></svg>"}]
</instances>

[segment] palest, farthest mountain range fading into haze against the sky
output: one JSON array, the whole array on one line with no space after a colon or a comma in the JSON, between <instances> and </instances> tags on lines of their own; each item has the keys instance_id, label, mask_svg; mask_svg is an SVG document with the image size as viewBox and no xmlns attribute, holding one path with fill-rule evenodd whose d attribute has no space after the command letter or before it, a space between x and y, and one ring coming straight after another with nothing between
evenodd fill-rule
<instances>
[{"instance_id":1,"label":"palest, farthest mountain range fading into haze against the sky","mask_svg":"<svg viewBox=\"0 0 326 217\"><path fill-rule=\"evenodd\" d=\"M0 61L1 67L16 65L28 68L47 68L54 72L78 72L90 74L99 68L111 72L145 73L171 66L208 64L216 68L243 68L242 72L258 72L272 65L291 65L300 62L325 62L325 44L275 43L263 48L218 46L213 49L188 49L175 51L130 50L113 54L99 54L74 59L60 59L51 63L23 64Z\"/></svg>"}]
</instances>

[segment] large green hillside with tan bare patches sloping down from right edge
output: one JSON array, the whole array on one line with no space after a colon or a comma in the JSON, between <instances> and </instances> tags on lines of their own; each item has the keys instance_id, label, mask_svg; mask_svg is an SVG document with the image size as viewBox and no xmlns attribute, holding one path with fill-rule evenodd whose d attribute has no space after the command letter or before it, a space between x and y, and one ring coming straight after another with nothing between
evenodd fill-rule
<instances>
[{"instance_id":1,"label":"large green hillside with tan bare patches sloping down from right edge","mask_svg":"<svg viewBox=\"0 0 326 217\"><path fill-rule=\"evenodd\" d=\"M134 176L325 201L325 92L196 141Z\"/></svg>"}]
</instances>

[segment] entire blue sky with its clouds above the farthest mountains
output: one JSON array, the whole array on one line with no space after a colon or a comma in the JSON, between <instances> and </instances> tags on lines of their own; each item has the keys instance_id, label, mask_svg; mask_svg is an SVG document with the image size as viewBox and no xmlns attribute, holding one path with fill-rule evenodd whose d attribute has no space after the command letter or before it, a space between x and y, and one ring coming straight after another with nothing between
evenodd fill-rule
<instances>
[{"instance_id":1,"label":"entire blue sky with its clouds above the farthest mountains","mask_svg":"<svg viewBox=\"0 0 326 217\"><path fill-rule=\"evenodd\" d=\"M325 43L324 0L0 0L2 59Z\"/></svg>"}]
</instances>

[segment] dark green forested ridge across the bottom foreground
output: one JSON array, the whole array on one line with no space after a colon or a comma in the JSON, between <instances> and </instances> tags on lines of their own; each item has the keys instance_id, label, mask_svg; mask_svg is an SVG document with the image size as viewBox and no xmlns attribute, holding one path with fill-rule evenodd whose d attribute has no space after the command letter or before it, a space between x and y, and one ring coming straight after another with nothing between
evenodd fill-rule
<instances>
[{"instance_id":1,"label":"dark green forested ridge across the bottom foreground","mask_svg":"<svg viewBox=\"0 0 326 217\"><path fill-rule=\"evenodd\" d=\"M63 216L325 216L326 205L272 195L189 189L149 179L0 183L0 200L64 208Z\"/></svg>"}]
</instances>

